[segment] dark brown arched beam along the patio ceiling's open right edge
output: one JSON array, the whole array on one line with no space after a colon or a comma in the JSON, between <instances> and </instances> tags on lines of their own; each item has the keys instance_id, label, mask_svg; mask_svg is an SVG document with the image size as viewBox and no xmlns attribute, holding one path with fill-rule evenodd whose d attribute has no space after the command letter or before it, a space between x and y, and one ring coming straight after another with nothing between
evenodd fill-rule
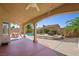
<instances>
[{"instance_id":1,"label":"dark brown arched beam along the patio ceiling's open right edge","mask_svg":"<svg viewBox=\"0 0 79 59\"><path fill-rule=\"evenodd\" d=\"M44 18L54 16L54 15L58 15L58 14L65 14L65 13L79 13L79 4L78 3L76 3L76 4L75 3L70 3L70 4L64 3L60 6L58 6L57 8L50 10L47 13L44 13L44 14L38 16L38 17L31 19L29 22L37 23L37 22L43 20ZM26 23L27 22L25 22L24 24L26 24Z\"/></svg>"}]
</instances>

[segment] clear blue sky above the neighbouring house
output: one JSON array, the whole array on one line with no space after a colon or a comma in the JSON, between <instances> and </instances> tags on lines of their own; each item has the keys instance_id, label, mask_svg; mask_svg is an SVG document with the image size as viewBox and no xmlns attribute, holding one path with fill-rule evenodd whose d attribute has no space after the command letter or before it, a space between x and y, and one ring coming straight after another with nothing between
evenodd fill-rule
<instances>
[{"instance_id":1,"label":"clear blue sky above the neighbouring house","mask_svg":"<svg viewBox=\"0 0 79 59\"><path fill-rule=\"evenodd\" d=\"M59 24L60 27L65 27L67 25L67 21L74 19L75 17L79 17L79 13L74 14L60 14L56 16L51 16L45 19L42 19L37 23L37 27L42 27L43 25L53 25Z\"/></svg>"}]
</instances>

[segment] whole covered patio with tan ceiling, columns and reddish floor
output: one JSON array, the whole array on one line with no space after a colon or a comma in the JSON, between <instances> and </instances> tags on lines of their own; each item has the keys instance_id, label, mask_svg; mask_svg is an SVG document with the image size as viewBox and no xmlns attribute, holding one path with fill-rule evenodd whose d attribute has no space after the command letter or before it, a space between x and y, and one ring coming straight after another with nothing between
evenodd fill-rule
<instances>
[{"instance_id":1,"label":"whole covered patio with tan ceiling, columns and reddish floor","mask_svg":"<svg viewBox=\"0 0 79 59\"><path fill-rule=\"evenodd\" d=\"M24 3L3 3L0 4L0 40L8 45L0 47L0 55L17 55L17 56L56 56L64 55L53 49L46 47L38 42L36 24L40 20L63 13L78 13L79 4L66 4L66 3L44 3L44 4L33 4L29 9L26 7L29 4ZM31 4L30 4L31 5ZM37 7L39 10L37 10ZM59 19L60 20L60 19ZM3 23L8 24L8 33L3 33ZM25 36L25 25L28 23L33 24L34 37L33 42L29 38L22 38L21 40L10 41L11 28L10 24L16 23L20 25L19 35ZM5 37L5 40L3 37ZM7 40L8 39L8 40ZM7 40L7 41L6 41ZM0 42L0 44L2 43Z\"/></svg>"}]
</instances>

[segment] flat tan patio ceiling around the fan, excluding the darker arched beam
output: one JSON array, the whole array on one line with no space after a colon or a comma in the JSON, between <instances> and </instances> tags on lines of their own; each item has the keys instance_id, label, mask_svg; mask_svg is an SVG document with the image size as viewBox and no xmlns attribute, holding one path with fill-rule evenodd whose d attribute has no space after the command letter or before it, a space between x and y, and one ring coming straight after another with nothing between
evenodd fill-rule
<instances>
[{"instance_id":1,"label":"flat tan patio ceiling around the fan, excluding the darker arched beam","mask_svg":"<svg viewBox=\"0 0 79 59\"><path fill-rule=\"evenodd\" d=\"M10 22L14 23L26 23L30 20L36 20L37 16L43 15L50 10L53 10L57 8L58 6L61 6L62 3L40 3L37 4L40 8L40 11L38 12L36 8L30 8L29 10L26 10L27 3L4 3L0 4L0 20L1 19L8 19Z\"/></svg>"}]
</instances>

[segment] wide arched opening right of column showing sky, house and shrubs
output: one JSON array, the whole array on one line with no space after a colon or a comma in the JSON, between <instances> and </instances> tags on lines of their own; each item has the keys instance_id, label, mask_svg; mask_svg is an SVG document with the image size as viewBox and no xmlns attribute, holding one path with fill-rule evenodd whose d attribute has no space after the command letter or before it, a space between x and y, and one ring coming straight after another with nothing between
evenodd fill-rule
<instances>
[{"instance_id":1,"label":"wide arched opening right of column showing sky, house and shrubs","mask_svg":"<svg viewBox=\"0 0 79 59\"><path fill-rule=\"evenodd\" d=\"M61 13L55 16L51 16L45 19L42 19L42 21L40 20L39 22L37 22L38 28L37 28L37 34L38 37L43 37L45 39L49 39L49 37L52 36L51 39L63 39L65 37L67 38L77 38L79 37L79 31L75 31L74 29L78 30L78 26L77 25L73 25L74 27L72 27L72 29L70 29L70 24L68 23L70 22L76 22L75 19L79 20L79 13ZM78 21L77 20L77 21ZM77 22L78 23L78 22ZM73 23L72 23L73 24ZM69 28L68 28L68 27ZM75 28L76 27L76 28ZM69 32L67 32L66 29L70 29ZM75 32L72 32L75 31ZM57 38L59 37L59 38Z\"/></svg>"}]
</instances>

